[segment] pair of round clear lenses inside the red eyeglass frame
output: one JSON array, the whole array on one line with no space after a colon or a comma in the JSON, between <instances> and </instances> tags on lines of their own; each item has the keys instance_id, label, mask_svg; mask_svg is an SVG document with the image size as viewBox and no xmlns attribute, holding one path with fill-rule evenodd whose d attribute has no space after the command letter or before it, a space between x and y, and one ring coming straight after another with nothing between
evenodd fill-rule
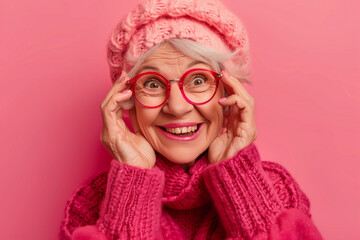
<instances>
[{"instance_id":1,"label":"pair of round clear lenses inside the red eyeglass frame","mask_svg":"<svg viewBox=\"0 0 360 240\"><path fill-rule=\"evenodd\" d=\"M167 82L156 74L145 74L137 79L135 97L143 105L154 107L166 100ZM194 71L183 80L183 91L187 100L200 104L208 101L216 91L216 79L207 71Z\"/></svg>"}]
</instances>

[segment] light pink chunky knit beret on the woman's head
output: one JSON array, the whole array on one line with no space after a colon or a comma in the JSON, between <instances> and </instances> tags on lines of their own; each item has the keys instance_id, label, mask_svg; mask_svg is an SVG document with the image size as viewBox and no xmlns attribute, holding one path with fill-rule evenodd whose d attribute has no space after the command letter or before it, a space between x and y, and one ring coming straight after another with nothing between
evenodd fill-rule
<instances>
[{"instance_id":1,"label":"light pink chunky knit beret on the woman's head","mask_svg":"<svg viewBox=\"0 0 360 240\"><path fill-rule=\"evenodd\" d=\"M116 26L108 43L114 82L137 57L171 38L197 41L218 51L238 50L249 68L249 41L244 25L219 0L144 0Z\"/></svg>"}]
</instances>

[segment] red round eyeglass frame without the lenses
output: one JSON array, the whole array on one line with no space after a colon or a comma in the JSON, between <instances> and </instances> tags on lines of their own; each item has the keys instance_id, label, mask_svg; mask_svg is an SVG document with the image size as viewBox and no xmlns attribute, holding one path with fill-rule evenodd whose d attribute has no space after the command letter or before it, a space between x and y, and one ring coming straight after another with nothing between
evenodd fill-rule
<instances>
[{"instance_id":1,"label":"red round eyeglass frame without the lenses","mask_svg":"<svg viewBox=\"0 0 360 240\"><path fill-rule=\"evenodd\" d=\"M205 102L201 102L201 103L195 103L195 102L191 101L191 100L186 96L186 94L185 94L185 92L184 92L184 89L183 89L183 83L184 83L185 77L186 77L187 75L191 74L192 72L196 72L196 71L205 71L205 72L211 73L211 75L213 75L213 77L215 78L215 82L216 82L216 84L215 84L216 88L215 88L214 94L209 98L209 100L207 100L207 101L205 101ZM157 75L157 76L161 77L163 80L165 80L166 86L167 86L166 97L165 97L164 101L163 101L161 104L159 104L159 105L157 105L157 106L153 106L153 107L151 107L151 106L146 106L146 105L142 104L142 103L136 98L136 94L135 94L135 85L136 85L135 83L136 83L136 81L137 81L140 77L142 77L142 76L144 76L144 75L147 75L147 74L154 74L154 75ZM181 76L180 79L167 79L164 75L162 75L161 73L158 73L158 72L144 72L144 73L140 73L140 74L136 75L134 78L128 80L128 81L126 82L126 85L127 85L128 87L130 87L130 90L132 91L135 100L136 100L141 106L143 106L143 107L145 107L145 108L158 108L158 107L161 107L162 105L164 105L165 102L169 99L170 90L171 90L171 82L179 82L180 92L181 92L181 94L183 95L184 99L185 99L188 103L193 104L193 105L203 105L203 104L205 104L205 103L210 102L211 99L214 98L214 96L215 96L215 94L216 94L216 92L217 92L217 90L218 90L219 80L220 80L220 78L221 78L222 76L223 76L222 73L217 73L217 72L214 72L214 71L212 71L212 70L202 69L202 68L193 68L193 69L190 69L190 70L186 71L186 72Z\"/></svg>"}]
</instances>

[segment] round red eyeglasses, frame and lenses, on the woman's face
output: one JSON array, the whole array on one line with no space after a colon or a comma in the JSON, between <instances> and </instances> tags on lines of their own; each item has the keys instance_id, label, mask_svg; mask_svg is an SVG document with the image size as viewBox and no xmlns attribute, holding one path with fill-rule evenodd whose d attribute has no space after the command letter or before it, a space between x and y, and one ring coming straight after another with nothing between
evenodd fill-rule
<instances>
[{"instance_id":1,"label":"round red eyeglasses, frame and lenses, on the woman's face","mask_svg":"<svg viewBox=\"0 0 360 240\"><path fill-rule=\"evenodd\" d=\"M157 72L145 72L127 81L135 100L143 107L157 108L169 98L171 82L179 82L185 100L194 105L209 102L216 94L222 74L208 69L190 69L180 79L168 80Z\"/></svg>"}]
</instances>

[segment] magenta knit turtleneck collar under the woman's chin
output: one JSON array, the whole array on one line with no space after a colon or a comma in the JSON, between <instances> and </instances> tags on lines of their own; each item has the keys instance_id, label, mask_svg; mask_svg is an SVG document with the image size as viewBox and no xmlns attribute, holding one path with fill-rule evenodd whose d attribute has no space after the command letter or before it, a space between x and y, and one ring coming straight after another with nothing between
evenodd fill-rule
<instances>
[{"instance_id":1,"label":"magenta knit turtleneck collar under the woman's chin","mask_svg":"<svg viewBox=\"0 0 360 240\"><path fill-rule=\"evenodd\" d=\"M187 172L181 165L157 154L155 166L165 173L163 204L174 209L192 209L210 201L201 173L208 166L207 154L203 154Z\"/></svg>"}]
</instances>

